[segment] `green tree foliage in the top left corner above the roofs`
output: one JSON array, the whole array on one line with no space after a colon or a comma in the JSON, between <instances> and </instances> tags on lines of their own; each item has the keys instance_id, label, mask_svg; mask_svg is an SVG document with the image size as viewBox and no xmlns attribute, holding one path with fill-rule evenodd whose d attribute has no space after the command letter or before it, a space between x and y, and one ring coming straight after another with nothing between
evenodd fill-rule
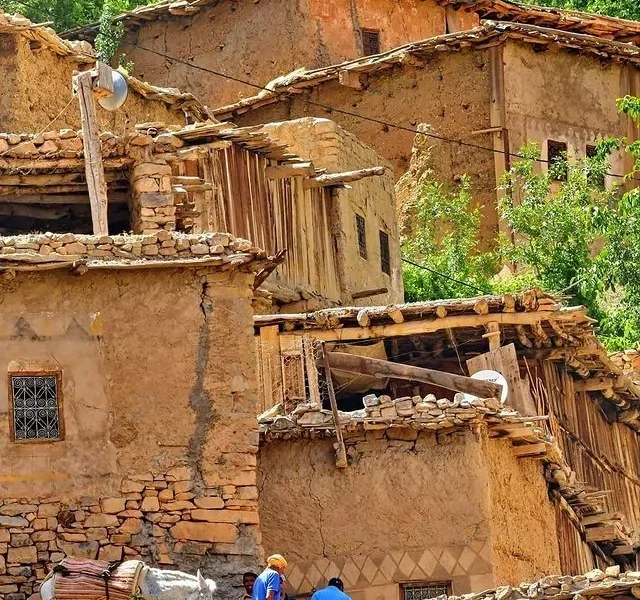
<instances>
[{"instance_id":1,"label":"green tree foliage in the top left corner above the roofs","mask_svg":"<svg viewBox=\"0 0 640 600\"><path fill-rule=\"evenodd\" d=\"M57 31L64 31L98 21L107 2L117 14L152 0L0 0L0 10L19 13L34 23L51 23Z\"/></svg>"}]
</instances>

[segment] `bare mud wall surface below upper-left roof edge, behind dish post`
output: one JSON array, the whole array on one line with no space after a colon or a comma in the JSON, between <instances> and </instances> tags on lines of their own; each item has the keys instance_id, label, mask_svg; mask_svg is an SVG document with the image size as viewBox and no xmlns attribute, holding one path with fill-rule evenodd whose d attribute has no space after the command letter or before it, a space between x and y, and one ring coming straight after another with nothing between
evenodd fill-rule
<instances>
[{"instance_id":1,"label":"bare mud wall surface below upper-left roof edge, behind dish post","mask_svg":"<svg viewBox=\"0 0 640 600\"><path fill-rule=\"evenodd\" d=\"M2 131L80 129L78 101L71 92L73 72L78 69L72 58L60 57L47 48L32 51L22 36L0 35ZM164 102L146 100L132 90L122 108L109 112L96 105L96 112L101 129L114 133L133 131L136 123L186 122L181 111L169 110Z\"/></svg>"}]
</instances>

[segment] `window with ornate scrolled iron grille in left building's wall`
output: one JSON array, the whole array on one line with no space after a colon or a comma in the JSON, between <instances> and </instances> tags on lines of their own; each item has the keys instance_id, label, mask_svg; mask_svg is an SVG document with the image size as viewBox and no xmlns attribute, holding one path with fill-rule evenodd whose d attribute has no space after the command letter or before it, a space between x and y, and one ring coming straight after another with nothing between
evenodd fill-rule
<instances>
[{"instance_id":1,"label":"window with ornate scrolled iron grille in left building's wall","mask_svg":"<svg viewBox=\"0 0 640 600\"><path fill-rule=\"evenodd\" d=\"M60 373L11 373L9 392L14 441L62 439Z\"/></svg>"}]
</instances>

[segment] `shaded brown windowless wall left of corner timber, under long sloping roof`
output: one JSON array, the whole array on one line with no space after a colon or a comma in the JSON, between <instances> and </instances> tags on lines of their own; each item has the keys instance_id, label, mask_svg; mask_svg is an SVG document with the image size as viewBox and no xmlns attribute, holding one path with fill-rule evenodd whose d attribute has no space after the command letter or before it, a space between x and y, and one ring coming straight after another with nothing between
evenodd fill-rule
<instances>
[{"instance_id":1,"label":"shaded brown windowless wall left of corner timber, under long sloping roof","mask_svg":"<svg viewBox=\"0 0 640 600\"><path fill-rule=\"evenodd\" d=\"M329 111L307 102L337 109ZM331 80L308 93L282 100L234 117L239 125L284 121L299 117L331 118L391 162L396 176L409 168L413 130L431 124L434 133L493 147L490 134L472 132L490 127L491 82L486 50L446 52L425 58L423 68L394 66L368 76L366 90L355 90ZM353 113L344 114L338 110ZM400 125L397 129L359 118L363 115ZM426 139L432 146L434 176L452 183L468 174L479 206L485 206L483 234L494 237L496 182L491 152L469 146Z\"/></svg>"}]
</instances>

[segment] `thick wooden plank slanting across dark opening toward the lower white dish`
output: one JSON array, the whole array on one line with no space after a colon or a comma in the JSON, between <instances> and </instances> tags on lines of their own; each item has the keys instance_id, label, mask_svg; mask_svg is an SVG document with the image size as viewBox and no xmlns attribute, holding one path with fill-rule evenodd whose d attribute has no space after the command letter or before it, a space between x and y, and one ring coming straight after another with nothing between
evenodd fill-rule
<instances>
[{"instance_id":1,"label":"thick wooden plank slanting across dark opening toward the lower white dish","mask_svg":"<svg viewBox=\"0 0 640 600\"><path fill-rule=\"evenodd\" d=\"M362 373L363 375L372 375L374 377L391 377L430 383L448 390L473 394L479 398L499 398L502 391L502 387L497 384L478 381L463 375L413 367L366 356L331 352L328 355L328 362L333 369Z\"/></svg>"}]
</instances>

